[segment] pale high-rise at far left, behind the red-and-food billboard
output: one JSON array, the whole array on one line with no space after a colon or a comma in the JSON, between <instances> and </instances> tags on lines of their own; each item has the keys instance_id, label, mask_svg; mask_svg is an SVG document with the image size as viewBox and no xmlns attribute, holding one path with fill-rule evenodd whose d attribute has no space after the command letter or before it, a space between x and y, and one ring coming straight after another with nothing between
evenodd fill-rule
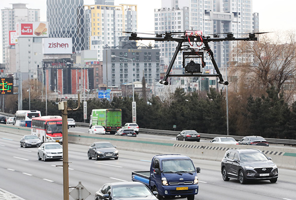
<instances>
[{"instance_id":1,"label":"pale high-rise at far left, behind the red-and-food billboard","mask_svg":"<svg viewBox=\"0 0 296 200\"><path fill-rule=\"evenodd\" d=\"M26 7L26 3L12 3L12 8L5 7L1 9L1 25L2 25L2 62L6 63L7 47L14 49L14 44L9 43L9 33L16 30L17 22L37 22L40 21L40 9L30 9ZM9 52L8 52L9 53Z\"/></svg>"}]
</instances>

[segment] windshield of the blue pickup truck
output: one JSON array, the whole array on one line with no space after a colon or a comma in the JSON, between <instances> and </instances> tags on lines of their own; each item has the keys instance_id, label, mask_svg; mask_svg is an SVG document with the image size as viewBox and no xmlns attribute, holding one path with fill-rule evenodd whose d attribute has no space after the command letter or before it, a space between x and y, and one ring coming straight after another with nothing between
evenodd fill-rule
<instances>
[{"instance_id":1,"label":"windshield of the blue pickup truck","mask_svg":"<svg viewBox=\"0 0 296 200\"><path fill-rule=\"evenodd\" d=\"M195 172L194 165L189 159L162 160L163 173Z\"/></svg>"}]
</instances>

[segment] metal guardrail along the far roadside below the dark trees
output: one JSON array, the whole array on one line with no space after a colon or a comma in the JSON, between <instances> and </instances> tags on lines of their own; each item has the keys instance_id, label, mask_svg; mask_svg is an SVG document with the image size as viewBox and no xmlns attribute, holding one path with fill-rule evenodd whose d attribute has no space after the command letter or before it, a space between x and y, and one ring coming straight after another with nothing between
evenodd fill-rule
<instances>
[{"instance_id":1,"label":"metal guardrail along the far roadside below the dark trees","mask_svg":"<svg viewBox=\"0 0 296 200\"><path fill-rule=\"evenodd\" d=\"M88 127L89 123L76 122L77 126ZM139 128L139 132L144 134L152 134L152 135L168 135L168 136L177 136L180 131L174 130L157 130L157 129L148 129L148 128ZM210 134L210 133L199 133L201 138L213 139L215 137L225 137L227 135L218 135L218 134ZM237 135L228 135L229 137L233 137L235 140L240 140L243 136ZM275 139L275 138L265 138L268 143L271 144L283 144L283 145L293 145L296 146L296 140L288 140L288 139Z\"/></svg>"}]
</instances>

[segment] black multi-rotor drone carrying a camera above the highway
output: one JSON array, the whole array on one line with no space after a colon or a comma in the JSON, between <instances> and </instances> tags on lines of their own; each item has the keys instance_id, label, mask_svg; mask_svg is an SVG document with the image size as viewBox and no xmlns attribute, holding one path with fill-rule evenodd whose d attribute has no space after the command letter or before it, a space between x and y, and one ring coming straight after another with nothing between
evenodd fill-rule
<instances>
[{"instance_id":1,"label":"black multi-rotor drone carrying a camera above the highway","mask_svg":"<svg viewBox=\"0 0 296 200\"><path fill-rule=\"evenodd\" d=\"M264 34L262 33L249 33L246 38L235 38L233 33L223 33L226 35L224 38L220 38L220 35L223 34L214 34L211 38L210 36L203 36L202 31L198 30L186 30L185 32L164 32L164 33L155 33L155 37L138 37L137 34L148 34L148 33L136 33L136 32L124 32L131 34L129 40L154 40L154 41L176 41L178 45L172 57L172 60L168 66L168 69L162 80L159 80L159 83L168 85L169 77L218 77L219 83L228 85L228 81L224 81L222 74L219 70L219 67L214 58L214 53L209 46L209 42L218 42L218 41L232 41L232 40L245 40L245 41L256 41L255 34ZM151 34L151 33L150 33ZM170 74L173 64L177 58L179 51L183 53L183 68L185 68L185 74ZM210 59L214 65L217 74L202 74L202 68L205 67L204 57L210 56ZM186 60L190 59L189 62ZM196 63L196 60L199 63Z\"/></svg>"}]
</instances>

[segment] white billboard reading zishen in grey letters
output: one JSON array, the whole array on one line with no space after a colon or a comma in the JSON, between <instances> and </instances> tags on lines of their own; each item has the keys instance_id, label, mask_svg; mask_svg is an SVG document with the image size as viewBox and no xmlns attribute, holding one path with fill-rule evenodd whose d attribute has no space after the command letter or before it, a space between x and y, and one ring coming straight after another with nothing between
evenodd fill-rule
<instances>
[{"instance_id":1,"label":"white billboard reading zishen in grey letters","mask_svg":"<svg viewBox=\"0 0 296 200\"><path fill-rule=\"evenodd\" d=\"M72 54L72 38L43 38L43 54Z\"/></svg>"}]
</instances>

